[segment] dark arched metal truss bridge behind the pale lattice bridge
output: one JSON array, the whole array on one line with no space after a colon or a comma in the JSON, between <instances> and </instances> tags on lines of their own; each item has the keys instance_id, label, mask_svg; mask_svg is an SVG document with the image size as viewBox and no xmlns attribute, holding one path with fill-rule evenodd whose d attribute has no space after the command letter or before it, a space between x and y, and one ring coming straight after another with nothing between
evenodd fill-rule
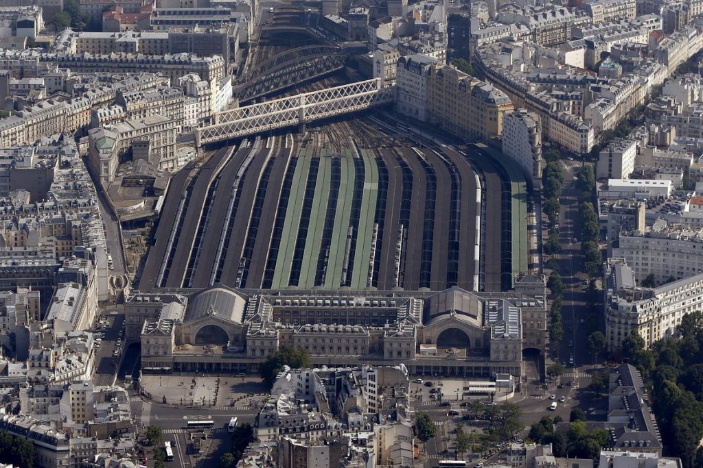
<instances>
[{"instance_id":1,"label":"dark arched metal truss bridge behind the pale lattice bridge","mask_svg":"<svg viewBox=\"0 0 703 468\"><path fill-rule=\"evenodd\" d=\"M274 55L240 79L239 102L249 102L344 67L347 54L337 46L305 46Z\"/></svg>"}]
</instances>

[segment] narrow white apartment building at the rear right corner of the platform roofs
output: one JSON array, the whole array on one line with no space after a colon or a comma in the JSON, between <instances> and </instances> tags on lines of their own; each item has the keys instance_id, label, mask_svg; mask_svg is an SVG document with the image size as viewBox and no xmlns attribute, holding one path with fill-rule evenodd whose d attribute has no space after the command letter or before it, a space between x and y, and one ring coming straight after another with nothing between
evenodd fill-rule
<instances>
[{"instance_id":1,"label":"narrow white apartment building at the rear right corner of the platform roofs","mask_svg":"<svg viewBox=\"0 0 703 468\"><path fill-rule=\"evenodd\" d=\"M542 123L536 113L517 109L503 115L503 153L533 178L542 177Z\"/></svg>"}]
</instances>

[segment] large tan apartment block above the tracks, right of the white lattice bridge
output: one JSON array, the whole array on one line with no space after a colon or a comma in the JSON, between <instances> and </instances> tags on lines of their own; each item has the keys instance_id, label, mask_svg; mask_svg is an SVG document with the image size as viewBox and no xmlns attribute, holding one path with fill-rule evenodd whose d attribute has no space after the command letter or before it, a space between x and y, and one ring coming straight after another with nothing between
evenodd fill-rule
<instances>
[{"instance_id":1,"label":"large tan apartment block above the tracks, right of the white lattice bridge","mask_svg":"<svg viewBox=\"0 0 703 468\"><path fill-rule=\"evenodd\" d=\"M501 135L514 109L503 91L449 65L430 66L427 89L427 121L464 140Z\"/></svg>"}]
</instances>

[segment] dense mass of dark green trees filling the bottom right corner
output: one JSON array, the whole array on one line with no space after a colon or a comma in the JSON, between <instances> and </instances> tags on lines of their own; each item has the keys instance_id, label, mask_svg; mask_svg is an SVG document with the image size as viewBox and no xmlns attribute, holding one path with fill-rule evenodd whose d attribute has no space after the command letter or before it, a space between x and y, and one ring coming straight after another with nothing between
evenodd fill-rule
<instances>
[{"instance_id":1,"label":"dense mass of dark green trees filling the bottom right corner","mask_svg":"<svg viewBox=\"0 0 703 468\"><path fill-rule=\"evenodd\" d=\"M681 319L678 337L645 348L636 332L622 352L652 389L652 409L666 452L681 457L684 468L703 467L703 312Z\"/></svg>"}]
</instances>

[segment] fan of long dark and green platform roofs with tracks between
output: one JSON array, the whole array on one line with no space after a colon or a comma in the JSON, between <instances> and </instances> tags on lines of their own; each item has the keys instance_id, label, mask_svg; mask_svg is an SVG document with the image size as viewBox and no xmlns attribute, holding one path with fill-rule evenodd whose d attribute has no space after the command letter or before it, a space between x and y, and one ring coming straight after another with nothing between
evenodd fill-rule
<instances>
[{"instance_id":1,"label":"fan of long dark and green platform roofs with tracks between","mask_svg":"<svg viewBox=\"0 0 703 468\"><path fill-rule=\"evenodd\" d=\"M407 130L332 121L176 175L155 286L505 288L510 216L497 169Z\"/></svg>"}]
</instances>

